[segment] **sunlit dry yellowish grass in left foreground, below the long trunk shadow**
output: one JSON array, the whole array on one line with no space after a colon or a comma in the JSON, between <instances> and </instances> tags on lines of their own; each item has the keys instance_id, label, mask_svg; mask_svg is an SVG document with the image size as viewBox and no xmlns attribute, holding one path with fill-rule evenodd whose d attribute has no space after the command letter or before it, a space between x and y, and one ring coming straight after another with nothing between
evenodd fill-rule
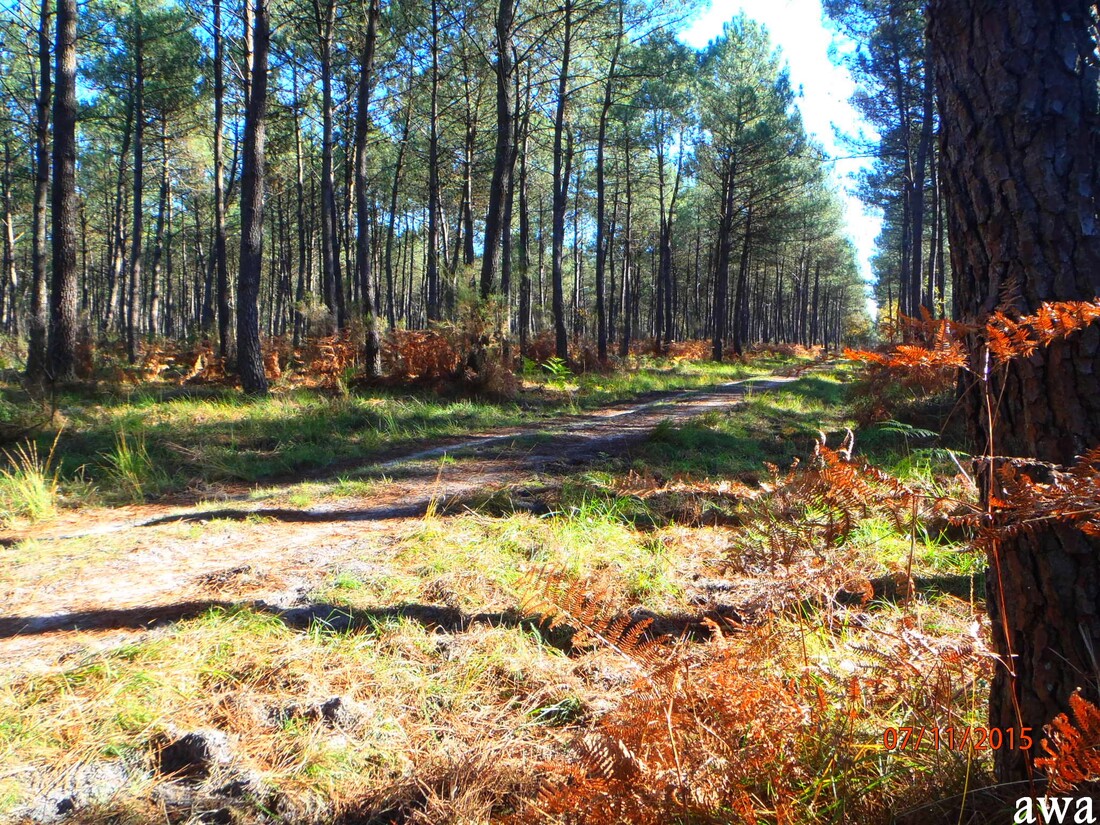
<instances>
[{"instance_id":1,"label":"sunlit dry yellowish grass in left foreground, below the long trunk shadow","mask_svg":"<svg viewBox=\"0 0 1100 825\"><path fill-rule=\"evenodd\" d=\"M158 741L212 728L229 735L234 768L260 778L263 806L295 821L400 806L425 816L455 789L465 801L449 821L487 821L508 788L529 781L518 760L538 756L541 738L530 712L583 691L571 670L517 629L480 626L452 638L396 619L333 632L212 610L57 673L7 682L0 754L6 765L58 774L124 755L151 768ZM330 719L317 708L333 697L342 710ZM19 801L13 782L0 789L0 799Z\"/></svg>"}]
</instances>

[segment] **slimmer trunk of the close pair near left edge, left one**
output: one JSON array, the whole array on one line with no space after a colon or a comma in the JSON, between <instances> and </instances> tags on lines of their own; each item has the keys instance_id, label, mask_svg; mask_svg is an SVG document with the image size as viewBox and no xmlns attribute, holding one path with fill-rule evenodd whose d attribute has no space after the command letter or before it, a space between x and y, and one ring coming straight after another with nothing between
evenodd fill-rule
<instances>
[{"instance_id":1,"label":"slimmer trunk of the close pair near left edge, left one","mask_svg":"<svg viewBox=\"0 0 1100 825\"><path fill-rule=\"evenodd\" d=\"M34 100L34 224L31 246L31 321L26 348L26 377L46 376L48 306L46 297L46 201L50 197L50 3L38 11L38 88Z\"/></svg>"}]
</instances>

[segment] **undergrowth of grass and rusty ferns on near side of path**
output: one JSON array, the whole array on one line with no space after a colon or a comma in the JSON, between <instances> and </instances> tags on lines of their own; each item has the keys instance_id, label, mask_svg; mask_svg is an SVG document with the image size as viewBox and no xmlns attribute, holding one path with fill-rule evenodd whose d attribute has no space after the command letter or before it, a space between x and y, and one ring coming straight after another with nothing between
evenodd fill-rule
<instances>
[{"instance_id":1,"label":"undergrowth of grass and rusty ferns on near side of path","mask_svg":"<svg viewBox=\"0 0 1100 825\"><path fill-rule=\"evenodd\" d=\"M0 682L0 756L148 766L164 737L224 730L262 780L234 803L240 822L922 821L922 805L991 781L988 750L884 739L985 724L981 525L965 446L906 417L909 402L859 426L853 377L803 375L663 425L626 457L447 503L386 540L342 534L288 610L234 597L227 574L224 604L197 617ZM231 408L233 449L272 403ZM309 403L400 426L391 399ZM160 461L170 420L112 424L144 432ZM1050 495L1087 503L1090 473ZM262 527L175 529L224 542ZM45 552L23 547L11 566ZM336 725L317 711L332 697L349 711ZM1074 710L1049 747L1080 763L1096 725ZM10 810L25 789L0 780L0 799ZM141 822L153 799L139 785L113 814Z\"/></svg>"}]
</instances>

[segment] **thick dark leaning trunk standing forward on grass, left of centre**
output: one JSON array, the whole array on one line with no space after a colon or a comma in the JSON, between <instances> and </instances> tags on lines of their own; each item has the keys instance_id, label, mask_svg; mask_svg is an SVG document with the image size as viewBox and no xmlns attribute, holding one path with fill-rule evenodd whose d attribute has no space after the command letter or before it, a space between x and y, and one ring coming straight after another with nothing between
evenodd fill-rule
<instances>
[{"instance_id":1,"label":"thick dark leaning trunk standing forward on grass, left of centre","mask_svg":"<svg viewBox=\"0 0 1100 825\"><path fill-rule=\"evenodd\" d=\"M237 276L237 369L250 395L267 392L260 348L260 274L264 248L264 138L267 118L267 0L254 0L252 82L241 166L241 264Z\"/></svg>"}]
</instances>

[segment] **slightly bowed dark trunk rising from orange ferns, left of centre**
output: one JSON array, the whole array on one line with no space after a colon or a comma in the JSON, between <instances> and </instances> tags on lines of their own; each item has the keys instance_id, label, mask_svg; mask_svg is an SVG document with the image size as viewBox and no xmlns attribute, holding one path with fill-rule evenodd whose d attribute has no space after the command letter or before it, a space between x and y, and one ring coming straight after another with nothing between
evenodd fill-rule
<instances>
[{"instance_id":1,"label":"slightly bowed dark trunk rising from orange ferns, left of centre","mask_svg":"<svg viewBox=\"0 0 1100 825\"><path fill-rule=\"evenodd\" d=\"M359 101L355 109L355 274L363 302L366 342L363 355L366 374L382 375L382 344L378 341L378 319L374 304L374 274L371 266L371 158L366 154L366 133L371 125L371 90L374 86L374 43L378 34L378 0L369 0L366 36L360 59Z\"/></svg>"}]
</instances>

